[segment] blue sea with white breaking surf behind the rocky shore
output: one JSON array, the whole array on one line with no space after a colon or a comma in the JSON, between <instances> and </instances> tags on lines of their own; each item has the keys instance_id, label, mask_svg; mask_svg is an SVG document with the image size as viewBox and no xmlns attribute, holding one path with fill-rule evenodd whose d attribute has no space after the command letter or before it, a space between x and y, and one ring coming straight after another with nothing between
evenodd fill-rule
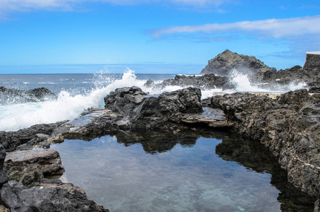
<instances>
[{"instance_id":1,"label":"blue sea with white breaking surf behind the rocky shore","mask_svg":"<svg viewBox=\"0 0 320 212\"><path fill-rule=\"evenodd\" d=\"M57 94L58 99L0 105L0 131L16 131L34 124L74 119L90 107L104 107L103 98L116 88L138 86L150 95L181 89L180 86L167 86L161 90L155 90L144 86L149 79L160 83L174 76L175 74L136 74L131 69L125 69L124 73L100 71L93 74L2 74L0 75L0 86L20 90L45 87ZM236 91L283 93L304 86L301 84L288 85L276 90L274 88L261 89L251 85L247 76L241 73L235 74L232 82L237 86L235 90L202 90L202 98L211 97L216 93Z\"/></svg>"}]
</instances>

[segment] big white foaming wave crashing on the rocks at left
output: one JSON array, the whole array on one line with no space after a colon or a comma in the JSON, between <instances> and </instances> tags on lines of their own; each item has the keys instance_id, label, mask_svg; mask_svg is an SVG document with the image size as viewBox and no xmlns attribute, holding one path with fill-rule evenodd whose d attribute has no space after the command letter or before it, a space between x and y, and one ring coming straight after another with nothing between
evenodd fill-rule
<instances>
[{"instance_id":1,"label":"big white foaming wave crashing on the rocks at left","mask_svg":"<svg viewBox=\"0 0 320 212\"><path fill-rule=\"evenodd\" d=\"M143 86L143 81L136 80L134 72L130 69L126 70L121 79L105 83L107 84L105 87L100 86L82 94L74 94L72 90L62 90L57 100L1 105L0 131L16 131L34 124L74 119L88 107L104 107L103 98L116 88Z\"/></svg>"}]
</instances>

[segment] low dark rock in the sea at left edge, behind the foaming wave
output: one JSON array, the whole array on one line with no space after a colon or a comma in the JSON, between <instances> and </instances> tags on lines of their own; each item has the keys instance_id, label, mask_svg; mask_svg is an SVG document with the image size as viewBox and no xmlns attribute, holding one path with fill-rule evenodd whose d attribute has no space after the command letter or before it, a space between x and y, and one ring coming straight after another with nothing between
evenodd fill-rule
<instances>
[{"instance_id":1,"label":"low dark rock in the sea at left edge, behind the foaming wave","mask_svg":"<svg viewBox=\"0 0 320 212\"><path fill-rule=\"evenodd\" d=\"M0 105L12 105L25 102L42 102L57 99L57 95L47 88L18 90L0 87Z\"/></svg>"}]
</instances>

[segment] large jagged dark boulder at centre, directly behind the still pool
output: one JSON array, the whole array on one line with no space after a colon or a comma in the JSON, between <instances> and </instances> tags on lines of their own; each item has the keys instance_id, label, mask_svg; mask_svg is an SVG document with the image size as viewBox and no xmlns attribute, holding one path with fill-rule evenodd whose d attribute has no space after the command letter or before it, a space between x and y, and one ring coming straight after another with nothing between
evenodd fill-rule
<instances>
[{"instance_id":1,"label":"large jagged dark boulder at centre, directly behind the still pool","mask_svg":"<svg viewBox=\"0 0 320 212\"><path fill-rule=\"evenodd\" d=\"M181 122L182 113L203 112L201 90L184 88L147 96L141 88L119 88L105 97L105 108L124 114L125 129L170 129Z\"/></svg>"}]
</instances>

